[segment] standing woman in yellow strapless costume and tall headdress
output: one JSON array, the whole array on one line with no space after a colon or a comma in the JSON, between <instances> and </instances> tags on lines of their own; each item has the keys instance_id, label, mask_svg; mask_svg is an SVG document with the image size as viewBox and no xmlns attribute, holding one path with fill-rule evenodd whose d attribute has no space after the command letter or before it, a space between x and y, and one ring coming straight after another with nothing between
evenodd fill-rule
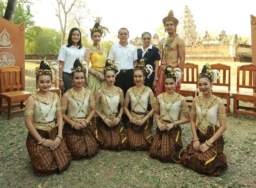
<instances>
[{"instance_id":1,"label":"standing woman in yellow strapless costume and tall headdress","mask_svg":"<svg viewBox=\"0 0 256 188\"><path fill-rule=\"evenodd\" d=\"M93 96L96 95L100 87L106 85L103 68L108 58L107 50L100 45L101 38L106 35L105 30L108 31L108 28L99 25L100 17L97 17L95 21L94 27L90 29L93 45L89 46L85 53L85 61L88 65L90 62L92 64L89 69L87 88L93 93Z\"/></svg>"}]
</instances>

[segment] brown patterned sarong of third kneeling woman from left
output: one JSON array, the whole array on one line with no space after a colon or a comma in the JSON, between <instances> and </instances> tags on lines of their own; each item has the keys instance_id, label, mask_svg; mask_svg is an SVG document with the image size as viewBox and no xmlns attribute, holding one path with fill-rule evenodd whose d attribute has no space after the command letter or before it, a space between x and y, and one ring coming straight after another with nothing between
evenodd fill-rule
<instances>
[{"instance_id":1,"label":"brown patterned sarong of third kneeling woman from left","mask_svg":"<svg viewBox=\"0 0 256 188\"><path fill-rule=\"evenodd\" d=\"M102 148L115 150L116 152L119 152L122 148L127 149L128 139L122 121L114 127L108 127L101 118L96 117L96 127L102 135Z\"/></svg>"}]
</instances>

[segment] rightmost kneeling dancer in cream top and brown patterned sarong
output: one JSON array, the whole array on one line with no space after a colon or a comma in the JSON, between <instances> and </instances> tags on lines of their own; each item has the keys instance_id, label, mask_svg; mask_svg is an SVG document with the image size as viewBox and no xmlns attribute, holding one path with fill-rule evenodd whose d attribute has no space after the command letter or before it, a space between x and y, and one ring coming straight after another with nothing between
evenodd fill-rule
<instances>
[{"instance_id":1,"label":"rightmost kneeling dancer in cream top and brown patterned sarong","mask_svg":"<svg viewBox=\"0 0 256 188\"><path fill-rule=\"evenodd\" d=\"M210 176L219 176L227 169L227 158L223 153L227 116L221 98L212 95L212 77L219 78L218 70L204 65L198 76L198 88L203 93L192 101L192 142L187 146L181 162L194 171ZM196 124L196 119L198 122ZM218 120L220 127L217 127Z\"/></svg>"}]
</instances>

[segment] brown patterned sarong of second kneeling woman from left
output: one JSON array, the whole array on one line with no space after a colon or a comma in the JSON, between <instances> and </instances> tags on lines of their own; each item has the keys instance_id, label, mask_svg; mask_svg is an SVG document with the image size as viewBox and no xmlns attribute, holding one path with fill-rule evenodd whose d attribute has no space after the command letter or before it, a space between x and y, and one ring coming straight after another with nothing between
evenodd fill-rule
<instances>
[{"instance_id":1,"label":"brown patterned sarong of second kneeling woman from left","mask_svg":"<svg viewBox=\"0 0 256 188\"><path fill-rule=\"evenodd\" d=\"M76 130L70 124L64 123L63 138L73 159L90 158L99 152L102 136L95 124L89 124L84 129Z\"/></svg>"}]
</instances>

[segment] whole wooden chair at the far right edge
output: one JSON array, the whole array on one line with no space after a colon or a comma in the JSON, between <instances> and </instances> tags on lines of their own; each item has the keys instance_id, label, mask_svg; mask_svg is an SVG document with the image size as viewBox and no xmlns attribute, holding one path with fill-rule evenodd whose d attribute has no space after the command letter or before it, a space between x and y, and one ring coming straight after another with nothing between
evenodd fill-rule
<instances>
[{"instance_id":1,"label":"whole wooden chair at the far right edge","mask_svg":"<svg viewBox=\"0 0 256 188\"><path fill-rule=\"evenodd\" d=\"M240 72L242 72L242 83L240 85ZM246 76L246 72L249 72L248 76ZM256 116L256 86L253 86L253 72L256 72L256 65L249 64L249 65L242 65L241 67L237 67L237 85L236 85L236 93L234 93L234 113L233 115L236 116L237 113L248 114ZM248 81L246 82L246 78ZM250 88L253 89L253 92L241 92L239 91L240 88ZM245 107L239 106L239 101L243 102L250 102L254 104L254 107ZM244 111L244 110L253 110Z\"/></svg>"}]
</instances>

